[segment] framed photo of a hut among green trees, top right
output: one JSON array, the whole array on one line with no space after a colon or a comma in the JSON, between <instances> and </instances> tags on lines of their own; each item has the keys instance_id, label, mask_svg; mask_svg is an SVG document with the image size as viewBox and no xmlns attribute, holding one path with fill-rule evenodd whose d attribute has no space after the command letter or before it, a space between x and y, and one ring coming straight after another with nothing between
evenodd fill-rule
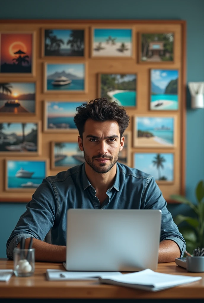
<instances>
[{"instance_id":1,"label":"framed photo of a hut among green trees, top right","mask_svg":"<svg viewBox=\"0 0 204 303\"><path fill-rule=\"evenodd\" d=\"M174 33L140 33L139 62L173 62Z\"/></svg>"}]
</instances>

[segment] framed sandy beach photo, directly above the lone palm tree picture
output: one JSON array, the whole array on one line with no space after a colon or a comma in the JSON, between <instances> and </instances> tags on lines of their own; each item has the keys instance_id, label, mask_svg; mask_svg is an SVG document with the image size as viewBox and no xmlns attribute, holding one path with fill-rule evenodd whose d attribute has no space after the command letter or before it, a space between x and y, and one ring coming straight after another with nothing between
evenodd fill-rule
<instances>
[{"instance_id":1,"label":"framed sandy beach photo, directly above the lone palm tree picture","mask_svg":"<svg viewBox=\"0 0 204 303\"><path fill-rule=\"evenodd\" d=\"M134 116L134 147L174 148L177 143L177 117Z\"/></svg>"}]
</instances>

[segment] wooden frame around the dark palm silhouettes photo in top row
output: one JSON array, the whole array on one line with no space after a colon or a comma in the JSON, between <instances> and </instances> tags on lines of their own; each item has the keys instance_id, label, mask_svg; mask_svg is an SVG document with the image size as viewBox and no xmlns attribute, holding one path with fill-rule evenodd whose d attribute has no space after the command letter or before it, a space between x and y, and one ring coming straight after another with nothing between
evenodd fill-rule
<instances>
[{"instance_id":1,"label":"wooden frame around the dark palm silhouettes photo in top row","mask_svg":"<svg viewBox=\"0 0 204 303\"><path fill-rule=\"evenodd\" d=\"M44 43L44 39L45 39L45 30L46 29L56 29L56 30L83 30L84 31L84 54L83 56L45 56L45 43ZM53 61L55 61L57 58L62 58L62 59L67 59L69 58L70 59L73 59L74 61L76 60L80 60L80 59L86 59L88 57L88 49L87 49L87 46L88 46L88 28L86 26L63 26L58 28L58 26L52 26L51 28L47 28L47 27L43 27L41 28L41 37L42 37L42 41L41 41L41 57L42 59L52 59Z\"/></svg>"}]
</instances>

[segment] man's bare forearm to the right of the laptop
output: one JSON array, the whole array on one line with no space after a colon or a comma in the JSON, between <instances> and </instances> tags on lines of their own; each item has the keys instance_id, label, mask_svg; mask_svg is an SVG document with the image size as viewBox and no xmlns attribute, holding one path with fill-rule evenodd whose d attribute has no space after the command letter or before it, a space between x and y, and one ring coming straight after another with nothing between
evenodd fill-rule
<instances>
[{"instance_id":1,"label":"man's bare forearm to the right of the laptop","mask_svg":"<svg viewBox=\"0 0 204 303\"><path fill-rule=\"evenodd\" d=\"M158 263L174 262L181 255L180 248L172 240L163 240L159 245Z\"/></svg>"}]
</instances>

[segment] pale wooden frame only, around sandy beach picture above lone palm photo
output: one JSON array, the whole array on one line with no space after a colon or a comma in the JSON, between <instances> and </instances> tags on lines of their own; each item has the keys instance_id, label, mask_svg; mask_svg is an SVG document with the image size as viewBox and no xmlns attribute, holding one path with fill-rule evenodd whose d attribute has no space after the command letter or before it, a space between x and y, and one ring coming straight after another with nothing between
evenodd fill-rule
<instances>
[{"instance_id":1,"label":"pale wooden frame only, around sandy beach picture above lone palm photo","mask_svg":"<svg viewBox=\"0 0 204 303\"><path fill-rule=\"evenodd\" d=\"M139 144L138 142L138 136L137 136L137 118L172 118L174 120L174 136L173 136L173 144L172 145L158 145L157 142L152 142L150 143L149 145L145 145L145 144ZM159 113L159 115L152 115L152 114L144 114L144 115L141 115L141 114L138 114L138 115L135 115L133 117L133 146L135 148L158 148L158 149L161 149L161 148L176 148L177 147L177 142L178 142L178 134L177 134L177 115L167 115L167 114L161 114Z\"/></svg>"}]
</instances>

